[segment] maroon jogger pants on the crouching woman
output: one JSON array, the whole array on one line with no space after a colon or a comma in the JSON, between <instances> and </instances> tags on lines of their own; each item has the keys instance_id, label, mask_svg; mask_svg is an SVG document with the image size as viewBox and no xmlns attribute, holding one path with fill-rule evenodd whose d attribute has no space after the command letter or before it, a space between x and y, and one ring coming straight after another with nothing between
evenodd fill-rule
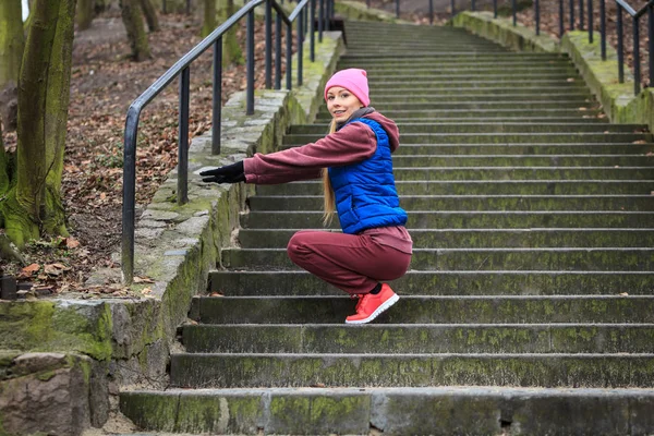
<instances>
[{"instance_id":1,"label":"maroon jogger pants on the crouching woman","mask_svg":"<svg viewBox=\"0 0 654 436\"><path fill-rule=\"evenodd\" d=\"M402 277L411 262L410 254L366 234L303 230L293 234L287 251L295 265L350 294Z\"/></svg>"}]
</instances>

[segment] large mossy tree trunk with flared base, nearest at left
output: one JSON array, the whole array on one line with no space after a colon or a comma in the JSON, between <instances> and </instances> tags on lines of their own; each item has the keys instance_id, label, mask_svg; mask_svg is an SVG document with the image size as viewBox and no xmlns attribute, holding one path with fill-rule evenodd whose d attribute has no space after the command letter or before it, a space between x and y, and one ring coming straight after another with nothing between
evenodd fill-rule
<instances>
[{"instance_id":1,"label":"large mossy tree trunk with flared base, nearest at left","mask_svg":"<svg viewBox=\"0 0 654 436\"><path fill-rule=\"evenodd\" d=\"M19 247L41 234L68 235L60 190L75 0L36 0L33 14L19 87L16 183L2 205Z\"/></svg>"}]
</instances>

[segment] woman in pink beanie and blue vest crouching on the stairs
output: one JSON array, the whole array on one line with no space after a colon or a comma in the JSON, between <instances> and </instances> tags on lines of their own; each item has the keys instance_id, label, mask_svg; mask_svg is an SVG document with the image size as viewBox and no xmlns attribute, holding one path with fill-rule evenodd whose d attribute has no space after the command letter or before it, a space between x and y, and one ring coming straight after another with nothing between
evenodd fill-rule
<instances>
[{"instance_id":1,"label":"woman in pink beanie and blue vest crouching on the stairs","mask_svg":"<svg viewBox=\"0 0 654 436\"><path fill-rule=\"evenodd\" d=\"M348 324L366 324L399 296L385 281L402 277L412 241L404 228L392 173L396 123L370 107L366 72L342 70L325 86L330 132L315 143L201 172L216 183L277 184L323 179L325 223L334 214L342 233L303 230L288 244L300 267L358 299Z\"/></svg>"}]
</instances>

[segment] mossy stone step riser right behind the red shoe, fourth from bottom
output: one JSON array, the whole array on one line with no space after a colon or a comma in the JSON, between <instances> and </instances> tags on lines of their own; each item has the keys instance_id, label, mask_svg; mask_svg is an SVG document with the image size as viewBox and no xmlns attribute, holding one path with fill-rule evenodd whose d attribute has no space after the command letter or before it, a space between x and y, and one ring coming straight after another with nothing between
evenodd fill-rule
<instances>
[{"instance_id":1,"label":"mossy stone step riser right behind the red shoe, fourth from bottom","mask_svg":"<svg viewBox=\"0 0 654 436\"><path fill-rule=\"evenodd\" d=\"M407 296L398 292L400 300L374 325L654 323L652 295ZM193 299L189 316L202 324L220 325L342 325L355 305L349 296L332 295L199 296Z\"/></svg>"}]
</instances>

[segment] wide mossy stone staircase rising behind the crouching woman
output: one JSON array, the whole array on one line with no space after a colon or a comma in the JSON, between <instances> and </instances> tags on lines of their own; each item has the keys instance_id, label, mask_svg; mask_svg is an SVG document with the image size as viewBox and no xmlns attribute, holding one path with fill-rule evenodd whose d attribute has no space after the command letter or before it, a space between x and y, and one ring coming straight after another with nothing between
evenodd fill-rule
<instances>
[{"instance_id":1,"label":"wide mossy stone staircase rising behind the crouching woman","mask_svg":"<svg viewBox=\"0 0 654 436\"><path fill-rule=\"evenodd\" d=\"M258 186L210 276L222 296L194 299L173 389L124 392L123 413L193 434L653 433L651 134L609 124L566 57L450 27L346 32L338 68L367 70L400 126L400 301L344 325L354 302L286 254L320 228L319 182Z\"/></svg>"}]
</instances>

